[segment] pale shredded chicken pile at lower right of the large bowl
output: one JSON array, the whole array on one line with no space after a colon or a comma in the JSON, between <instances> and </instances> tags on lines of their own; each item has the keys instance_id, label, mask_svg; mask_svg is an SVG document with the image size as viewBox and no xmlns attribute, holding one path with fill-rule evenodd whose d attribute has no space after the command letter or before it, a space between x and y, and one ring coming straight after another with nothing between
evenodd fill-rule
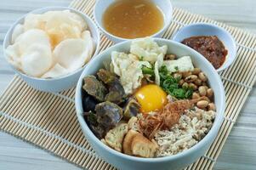
<instances>
[{"instance_id":1,"label":"pale shredded chicken pile at lower right of the large bowl","mask_svg":"<svg viewBox=\"0 0 256 170\"><path fill-rule=\"evenodd\" d=\"M174 127L156 133L154 139L159 145L156 157L175 155L190 149L208 133L215 115L215 111L198 108L195 111L186 110Z\"/></svg>"}]
</instances>

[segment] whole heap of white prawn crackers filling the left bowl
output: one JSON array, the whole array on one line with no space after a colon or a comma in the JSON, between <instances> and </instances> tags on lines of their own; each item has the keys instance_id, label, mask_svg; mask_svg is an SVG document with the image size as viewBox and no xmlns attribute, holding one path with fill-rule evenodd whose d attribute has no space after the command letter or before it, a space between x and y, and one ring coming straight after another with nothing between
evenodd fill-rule
<instances>
[{"instance_id":1,"label":"whole heap of white prawn crackers filling the left bowl","mask_svg":"<svg viewBox=\"0 0 256 170\"><path fill-rule=\"evenodd\" d=\"M28 14L14 27L9 63L31 77L54 78L82 68L94 54L88 25L70 10Z\"/></svg>"}]
</instances>

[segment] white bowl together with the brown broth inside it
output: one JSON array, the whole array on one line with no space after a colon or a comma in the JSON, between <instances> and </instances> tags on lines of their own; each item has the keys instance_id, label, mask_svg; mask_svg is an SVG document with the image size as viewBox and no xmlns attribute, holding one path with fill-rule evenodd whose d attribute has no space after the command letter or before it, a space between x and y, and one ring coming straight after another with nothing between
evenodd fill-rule
<instances>
[{"instance_id":1,"label":"white bowl together with the brown broth inside it","mask_svg":"<svg viewBox=\"0 0 256 170\"><path fill-rule=\"evenodd\" d=\"M162 37L172 20L169 0L98 0L94 19L112 42Z\"/></svg>"}]
</instances>

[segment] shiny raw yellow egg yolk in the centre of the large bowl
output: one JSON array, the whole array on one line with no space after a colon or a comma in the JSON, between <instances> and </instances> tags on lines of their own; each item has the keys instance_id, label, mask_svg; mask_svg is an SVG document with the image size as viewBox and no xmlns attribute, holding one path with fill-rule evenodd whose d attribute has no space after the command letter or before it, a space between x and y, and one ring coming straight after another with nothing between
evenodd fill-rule
<instances>
[{"instance_id":1,"label":"shiny raw yellow egg yolk in the centre of the large bowl","mask_svg":"<svg viewBox=\"0 0 256 170\"><path fill-rule=\"evenodd\" d=\"M139 102L142 113L158 111L167 103L167 94L155 84L149 84L139 88L135 94L135 98Z\"/></svg>"}]
</instances>

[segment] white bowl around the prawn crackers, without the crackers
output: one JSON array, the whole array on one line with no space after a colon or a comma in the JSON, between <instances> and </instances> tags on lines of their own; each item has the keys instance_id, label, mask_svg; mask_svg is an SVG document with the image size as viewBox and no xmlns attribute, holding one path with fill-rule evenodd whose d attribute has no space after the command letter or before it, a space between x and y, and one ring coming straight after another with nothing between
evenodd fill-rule
<instances>
[{"instance_id":1,"label":"white bowl around the prawn crackers, without the crackers","mask_svg":"<svg viewBox=\"0 0 256 170\"><path fill-rule=\"evenodd\" d=\"M82 19L84 19L88 24L88 30L91 32L91 36L94 39L95 43L95 51L94 55L98 54L100 49L100 33L97 29L97 26L95 26L93 20L91 20L86 14L82 14L81 12L77 11L74 8L66 8L66 7L48 7L48 8L39 8L36 10L31 11L29 14L43 14L47 11L51 10L65 10L69 9L71 12L79 14L82 16ZM27 15L27 14L26 14ZM5 49L11 44L11 37L12 33L14 31L14 27L17 24L23 24L24 19L26 15L22 16L19 20L16 20L9 28L9 31L7 32L4 40L3 40L3 54L5 58L7 59L7 54L5 54ZM94 57L94 56L93 56ZM77 71L71 72L68 75L65 75L63 77L56 77L56 78L37 78L37 77L30 77L26 74L18 71L16 68L14 68L13 65L9 64L14 72L18 74L28 85L30 85L32 88L36 88L37 90L44 91L44 92L60 92L65 89L71 88L77 84L78 78L80 77L82 70L84 66Z\"/></svg>"}]
</instances>

